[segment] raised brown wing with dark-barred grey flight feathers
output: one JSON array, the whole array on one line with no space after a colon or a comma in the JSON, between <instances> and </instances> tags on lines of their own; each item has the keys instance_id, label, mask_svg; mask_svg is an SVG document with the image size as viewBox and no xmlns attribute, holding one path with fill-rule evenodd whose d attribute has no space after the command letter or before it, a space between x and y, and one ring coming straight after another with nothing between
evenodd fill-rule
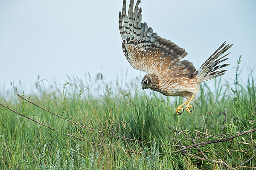
<instances>
[{"instance_id":1,"label":"raised brown wing with dark-barred grey flight feathers","mask_svg":"<svg viewBox=\"0 0 256 170\"><path fill-rule=\"evenodd\" d=\"M166 40L155 33L146 23L142 23L142 9L137 1L130 1L126 14L126 0L123 2L122 14L119 12L119 29L122 36L122 49L131 66L149 74L167 76L194 77L196 69L187 60L187 52L174 42Z\"/></svg>"}]
</instances>

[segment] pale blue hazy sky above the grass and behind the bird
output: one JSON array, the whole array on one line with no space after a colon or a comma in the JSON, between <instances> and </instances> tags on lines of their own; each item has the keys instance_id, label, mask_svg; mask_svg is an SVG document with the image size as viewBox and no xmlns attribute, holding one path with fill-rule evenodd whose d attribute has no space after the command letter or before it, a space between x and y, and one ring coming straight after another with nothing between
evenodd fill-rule
<instances>
[{"instance_id":1,"label":"pale blue hazy sky above the grass and behind the bird","mask_svg":"<svg viewBox=\"0 0 256 170\"><path fill-rule=\"evenodd\" d=\"M142 0L140 7L142 21L185 48L195 68L224 41L234 45L222 79L233 82L240 55L240 78L246 81L255 68L256 0ZM122 52L121 9L122 0L0 0L0 87L21 80L30 88L38 75L61 85L66 74L143 77Z\"/></svg>"}]
</instances>

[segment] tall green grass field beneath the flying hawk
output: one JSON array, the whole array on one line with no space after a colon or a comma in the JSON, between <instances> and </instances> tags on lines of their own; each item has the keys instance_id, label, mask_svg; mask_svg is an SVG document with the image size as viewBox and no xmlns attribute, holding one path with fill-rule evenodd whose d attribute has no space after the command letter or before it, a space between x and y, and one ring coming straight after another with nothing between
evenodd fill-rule
<instances>
[{"instance_id":1,"label":"tall green grass field beneath the flying hawk","mask_svg":"<svg viewBox=\"0 0 256 170\"><path fill-rule=\"evenodd\" d=\"M215 89L201 85L201 94L192 102L195 111L180 116L175 109L182 98L170 98L153 91L145 94L139 88L140 78L121 85L108 83L99 74L97 79L89 78L87 82L70 79L61 90L54 85L44 88L38 83L35 94L26 95L26 91L16 87L2 91L1 104L57 131L0 107L0 169L222 170L223 165L201 161L184 152L171 153L182 148L174 145L224 139L256 128L253 77L248 78L246 86L241 86L236 78L233 91L221 79L214 81ZM104 133L58 118L17 97L17 93L64 118ZM225 133L234 134L211 137ZM190 139L193 137L197 137L195 141ZM255 167L255 140L256 133L247 133L230 141L200 146L200 149L208 159L221 159L233 168ZM186 152L204 157L196 147Z\"/></svg>"}]
</instances>

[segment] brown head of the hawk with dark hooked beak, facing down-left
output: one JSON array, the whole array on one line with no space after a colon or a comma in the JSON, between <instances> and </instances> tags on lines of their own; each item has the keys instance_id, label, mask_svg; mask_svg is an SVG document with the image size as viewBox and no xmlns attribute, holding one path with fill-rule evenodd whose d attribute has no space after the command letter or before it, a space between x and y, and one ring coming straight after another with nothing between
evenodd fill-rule
<instances>
[{"instance_id":1,"label":"brown head of the hawk with dark hooked beak, facing down-left","mask_svg":"<svg viewBox=\"0 0 256 170\"><path fill-rule=\"evenodd\" d=\"M158 88L158 77L155 74L146 74L141 81L142 89L150 88L154 90Z\"/></svg>"}]
</instances>

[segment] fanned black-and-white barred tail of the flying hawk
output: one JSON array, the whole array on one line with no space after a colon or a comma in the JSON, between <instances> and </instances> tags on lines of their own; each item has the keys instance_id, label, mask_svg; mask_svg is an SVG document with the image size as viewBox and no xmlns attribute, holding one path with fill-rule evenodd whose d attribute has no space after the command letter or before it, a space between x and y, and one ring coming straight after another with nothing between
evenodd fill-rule
<instances>
[{"instance_id":1,"label":"fanned black-and-white barred tail of the flying hawk","mask_svg":"<svg viewBox=\"0 0 256 170\"><path fill-rule=\"evenodd\" d=\"M210 79L219 77L225 74L225 71L227 71L227 70L218 71L218 69L224 68L229 65L229 64L220 65L221 62L224 62L228 59L226 56L230 53L224 56L221 56L221 55L224 54L233 45L233 44L231 45L227 44L225 46L225 44L226 42L224 42L199 68L197 77L200 82L205 82Z\"/></svg>"}]
</instances>

